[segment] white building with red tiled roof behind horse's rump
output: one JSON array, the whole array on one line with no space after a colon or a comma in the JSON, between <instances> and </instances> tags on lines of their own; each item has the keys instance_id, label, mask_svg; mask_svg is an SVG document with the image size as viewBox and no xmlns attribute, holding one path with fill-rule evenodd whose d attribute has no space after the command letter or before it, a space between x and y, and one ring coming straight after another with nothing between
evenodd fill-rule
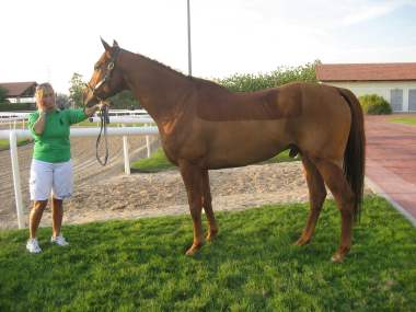
<instances>
[{"instance_id":1,"label":"white building with red tiled roof behind horse's rump","mask_svg":"<svg viewBox=\"0 0 416 312\"><path fill-rule=\"evenodd\" d=\"M416 62L396 63L321 63L320 82L346 88L357 96L378 94L393 112L416 113Z\"/></svg>"}]
</instances>

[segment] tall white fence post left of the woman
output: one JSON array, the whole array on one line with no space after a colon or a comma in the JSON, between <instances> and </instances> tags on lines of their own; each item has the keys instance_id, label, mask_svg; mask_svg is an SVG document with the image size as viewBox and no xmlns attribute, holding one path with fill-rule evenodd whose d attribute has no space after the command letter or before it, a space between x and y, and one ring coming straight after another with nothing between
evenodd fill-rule
<instances>
[{"instance_id":1,"label":"tall white fence post left of the woman","mask_svg":"<svg viewBox=\"0 0 416 312\"><path fill-rule=\"evenodd\" d=\"M24 215L23 215L23 204L22 204L22 188L20 184L18 137L16 137L15 130L10 131L9 143L10 143L10 157L12 159L14 198L16 200L18 223L19 223L19 229L23 229Z\"/></svg>"}]
</instances>

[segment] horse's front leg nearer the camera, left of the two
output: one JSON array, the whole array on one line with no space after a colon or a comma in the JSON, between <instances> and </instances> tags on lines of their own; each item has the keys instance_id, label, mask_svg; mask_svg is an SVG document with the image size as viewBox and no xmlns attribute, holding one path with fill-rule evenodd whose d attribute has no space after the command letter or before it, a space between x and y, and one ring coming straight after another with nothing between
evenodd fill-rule
<instances>
[{"instance_id":1,"label":"horse's front leg nearer the camera, left of the two","mask_svg":"<svg viewBox=\"0 0 416 312\"><path fill-rule=\"evenodd\" d=\"M203 209L203 171L189 161L178 161L182 178L186 187L190 216L194 223L194 242L186 255L194 255L204 244L201 209Z\"/></svg>"}]
</instances>

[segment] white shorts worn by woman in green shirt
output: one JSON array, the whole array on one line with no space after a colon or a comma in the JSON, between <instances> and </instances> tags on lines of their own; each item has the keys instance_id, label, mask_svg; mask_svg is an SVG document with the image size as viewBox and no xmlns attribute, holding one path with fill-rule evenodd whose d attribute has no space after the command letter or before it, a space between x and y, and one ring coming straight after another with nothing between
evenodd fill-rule
<instances>
[{"instance_id":1,"label":"white shorts worn by woman in green shirt","mask_svg":"<svg viewBox=\"0 0 416 312\"><path fill-rule=\"evenodd\" d=\"M50 195L56 199L71 196L72 160L51 163L33 159L28 184L31 200L46 200Z\"/></svg>"}]
</instances>

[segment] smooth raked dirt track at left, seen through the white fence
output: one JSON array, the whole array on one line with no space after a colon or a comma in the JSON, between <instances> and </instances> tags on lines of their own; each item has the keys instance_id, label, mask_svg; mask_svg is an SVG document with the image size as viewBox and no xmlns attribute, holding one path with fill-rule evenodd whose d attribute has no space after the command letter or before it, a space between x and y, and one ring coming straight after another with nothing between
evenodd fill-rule
<instances>
[{"instance_id":1,"label":"smooth raked dirt track at left, seen through the white fence","mask_svg":"<svg viewBox=\"0 0 416 312\"><path fill-rule=\"evenodd\" d=\"M71 139L71 153L74 164L74 192L79 187L93 185L95 181L118 175L124 171L123 139L122 137L108 137L109 160L103 167L95 159L96 138ZM158 141L151 137L152 146ZM140 136L128 137L130 161L146 155L146 140ZM21 172L21 187L24 212L30 209L28 174L32 160L33 145L19 148L19 166ZM103 155L103 151L100 153ZM13 178L11 171L10 151L0 151L0 229L16 227L16 212L14 201Z\"/></svg>"}]
</instances>

